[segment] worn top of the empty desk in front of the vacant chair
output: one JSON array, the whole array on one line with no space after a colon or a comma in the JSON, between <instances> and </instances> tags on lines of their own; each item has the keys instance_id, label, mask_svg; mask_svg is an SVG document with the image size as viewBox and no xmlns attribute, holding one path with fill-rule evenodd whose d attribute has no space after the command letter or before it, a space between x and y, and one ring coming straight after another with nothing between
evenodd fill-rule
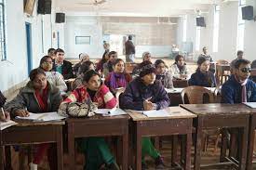
<instances>
[{"instance_id":1,"label":"worn top of the empty desk in front of the vacant chair","mask_svg":"<svg viewBox=\"0 0 256 170\"><path fill-rule=\"evenodd\" d=\"M197 115L234 115L234 114L249 114L251 110L244 104L182 104L182 108L191 111Z\"/></svg>"}]
</instances>

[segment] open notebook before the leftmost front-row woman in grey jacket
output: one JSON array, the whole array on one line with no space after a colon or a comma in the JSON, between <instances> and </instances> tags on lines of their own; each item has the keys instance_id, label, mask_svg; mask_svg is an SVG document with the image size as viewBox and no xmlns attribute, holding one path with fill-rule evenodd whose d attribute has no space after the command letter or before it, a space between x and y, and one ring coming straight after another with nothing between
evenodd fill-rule
<instances>
[{"instance_id":1,"label":"open notebook before the leftmost front-row woman in grey jacket","mask_svg":"<svg viewBox=\"0 0 256 170\"><path fill-rule=\"evenodd\" d=\"M16 116L16 119L32 120L34 122L60 121L65 118L66 117L61 116L57 112L43 112L43 113L30 112L30 115L28 117Z\"/></svg>"}]
</instances>

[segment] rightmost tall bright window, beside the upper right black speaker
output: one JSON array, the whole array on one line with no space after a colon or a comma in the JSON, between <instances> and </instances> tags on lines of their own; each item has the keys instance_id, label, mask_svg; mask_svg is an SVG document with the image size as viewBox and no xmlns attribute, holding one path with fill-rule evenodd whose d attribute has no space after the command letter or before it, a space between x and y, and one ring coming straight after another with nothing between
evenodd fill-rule
<instances>
[{"instance_id":1,"label":"rightmost tall bright window, beside the upper right black speaker","mask_svg":"<svg viewBox=\"0 0 256 170\"><path fill-rule=\"evenodd\" d=\"M236 49L244 50L244 34L245 34L245 20L242 19L242 7L245 7L246 0L239 0L238 7L238 26L236 37Z\"/></svg>"}]
</instances>

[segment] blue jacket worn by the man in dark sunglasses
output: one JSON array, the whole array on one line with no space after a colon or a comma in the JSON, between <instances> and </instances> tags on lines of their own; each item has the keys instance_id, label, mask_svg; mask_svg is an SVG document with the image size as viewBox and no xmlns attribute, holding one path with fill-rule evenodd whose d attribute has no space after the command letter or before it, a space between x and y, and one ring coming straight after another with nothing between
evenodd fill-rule
<instances>
[{"instance_id":1,"label":"blue jacket worn by the man in dark sunglasses","mask_svg":"<svg viewBox=\"0 0 256 170\"><path fill-rule=\"evenodd\" d=\"M256 102L256 84L248 80L246 84L247 101ZM240 85L235 75L232 75L228 81L222 85L222 103L241 103L242 102L242 85Z\"/></svg>"}]
</instances>

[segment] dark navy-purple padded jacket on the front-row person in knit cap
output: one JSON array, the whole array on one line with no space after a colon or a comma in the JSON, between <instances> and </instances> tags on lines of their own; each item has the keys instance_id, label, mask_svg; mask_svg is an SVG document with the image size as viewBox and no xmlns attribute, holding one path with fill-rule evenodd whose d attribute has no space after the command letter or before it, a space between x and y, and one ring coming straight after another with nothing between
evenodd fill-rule
<instances>
[{"instance_id":1,"label":"dark navy-purple padded jacket on the front-row person in knit cap","mask_svg":"<svg viewBox=\"0 0 256 170\"><path fill-rule=\"evenodd\" d=\"M153 85L144 85L141 77L130 82L120 96L120 108L142 111L144 98L156 104L156 110L165 109L169 106L168 93L164 86L157 80Z\"/></svg>"}]
</instances>

